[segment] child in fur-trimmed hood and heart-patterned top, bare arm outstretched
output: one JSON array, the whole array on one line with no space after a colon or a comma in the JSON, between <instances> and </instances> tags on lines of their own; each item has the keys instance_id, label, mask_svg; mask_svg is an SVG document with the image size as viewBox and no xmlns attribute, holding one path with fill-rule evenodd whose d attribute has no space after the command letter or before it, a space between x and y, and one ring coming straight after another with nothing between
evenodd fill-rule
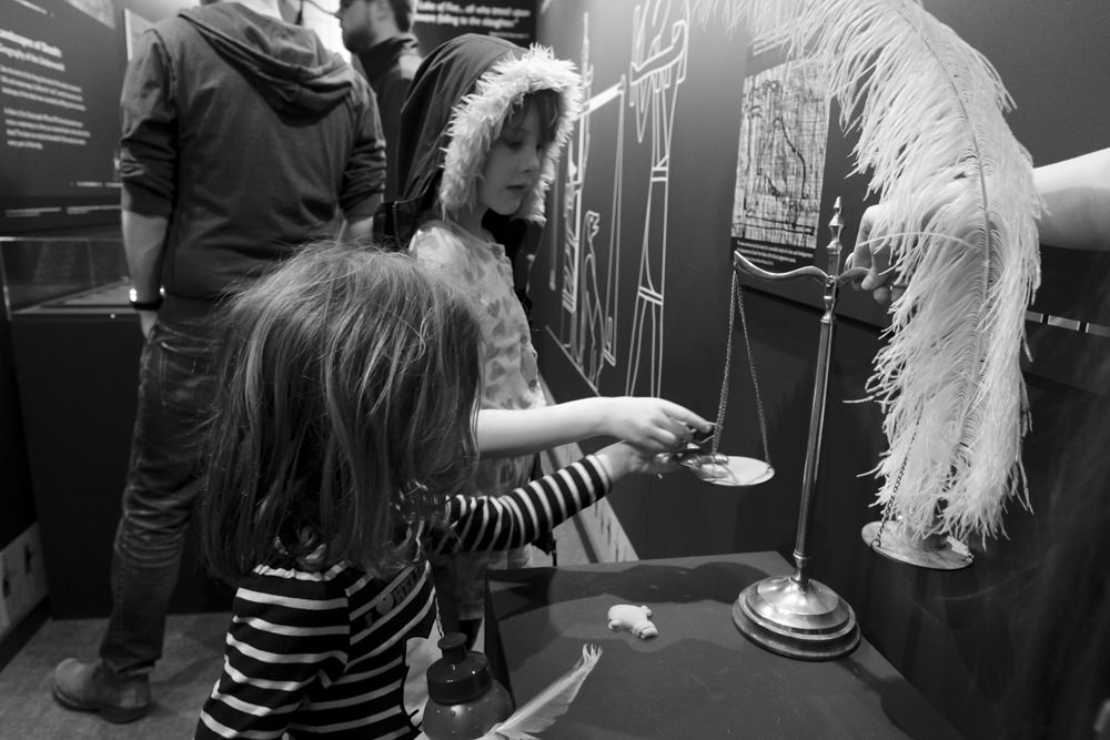
<instances>
[{"instance_id":1,"label":"child in fur-trimmed hood and heart-patterned top, bare arm outstretched","mask_svg":"<svg viewBox=\"0 0 1110 740\"><path fill-rule=\"evenodd\" d=\"M514 276L514 257L527 262L525 242L544 224L544 200L581 108L573 63L543 47L466 34L428 54L402 109L396 162L402 200L380 209L375 229L407 246L477 308L482 454L471 493L497 495L525 484L533 477L534 453L547 446L529 445L525 437L549 439L555 425L567 442L610 435L658 448L668 442L659 430L674 429L675 419L704 422L656 398L557 405L545 398L525 307L527 271L517 266ZM518 409L532 409L536 434L495 439L487 412ZM467 553L433 565L444 630L464 631L473 643L484 611L485 569L524 567L527 548Z\"/></svg>"}]
</instances>

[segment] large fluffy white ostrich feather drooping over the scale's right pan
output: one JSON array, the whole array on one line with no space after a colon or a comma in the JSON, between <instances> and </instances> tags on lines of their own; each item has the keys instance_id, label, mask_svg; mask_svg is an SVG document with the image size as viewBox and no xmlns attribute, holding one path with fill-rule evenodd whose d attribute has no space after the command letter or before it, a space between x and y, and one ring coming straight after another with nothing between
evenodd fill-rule
<instances>
[{"instance_id":1,"label":"large fluffy white ostrich feather drooping over the scale's right pan","mask_svg":"<svg viewBox=\"0 0 1110 740\"><path fill-rule=\"evenodd\" d=\"M906 285L867 385L887 437L884 517L922 536L1005 534L1007 504L1029 505L1020 359L1041 202L998 73L915 0L693 2L757 51L816 60L859 134L855 171L885 204L875 233Z\"/></svg>"}]
</instances>

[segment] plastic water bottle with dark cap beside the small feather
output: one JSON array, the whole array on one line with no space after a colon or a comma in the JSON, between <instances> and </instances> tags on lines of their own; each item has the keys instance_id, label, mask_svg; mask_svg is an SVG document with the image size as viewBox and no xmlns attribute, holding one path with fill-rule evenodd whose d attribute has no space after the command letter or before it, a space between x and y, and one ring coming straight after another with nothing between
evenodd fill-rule
<instances>
[{"instance_id":1,"label":"plastic water bottle with dark cap beside the small feather","mask_svg":"<svg viewBox=\"0 0 1110 740\"><path fill-rule=\"evenodd\" d=\"M513 699L481 652L466 649L466 636L440 639L443 657L427 669L424 733L431 740L474 740L513 713Z\"/></svg>"}]
</instances>

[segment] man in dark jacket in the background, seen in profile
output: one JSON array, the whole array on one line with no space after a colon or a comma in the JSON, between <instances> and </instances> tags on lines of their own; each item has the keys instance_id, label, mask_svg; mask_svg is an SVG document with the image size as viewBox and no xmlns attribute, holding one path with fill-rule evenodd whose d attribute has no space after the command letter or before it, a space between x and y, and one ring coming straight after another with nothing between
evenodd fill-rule
<instances>
[{"instance_id":1,"label":"man in dark jacket in the background, seen in profile","mask_svg":"<svg viewBox=\"0 0 1110 740\"><path fill-rule=\"evenodd\" d=\"M416 0L340 0L335 17L343 31L343 45L359 59L366 80L377 95L385 132L387 178L385 200L397 195L397 135L401 107L421 63L412 33Z\"/></svg>"}]
</instances>

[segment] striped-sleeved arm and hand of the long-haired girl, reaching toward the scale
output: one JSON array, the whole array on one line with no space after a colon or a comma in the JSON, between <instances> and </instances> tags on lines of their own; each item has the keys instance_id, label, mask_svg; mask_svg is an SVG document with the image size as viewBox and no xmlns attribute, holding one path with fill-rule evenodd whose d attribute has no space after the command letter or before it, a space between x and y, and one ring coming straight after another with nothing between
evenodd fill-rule
<instances>
[{"instance_id":1,"label":"striped-sleeved arm and hand of the long-haired girl, reaching toward the scale","mask_svg":"<svg viewBox=\"0 0 1110 740\"><path fill-rule=\"evenodd\" d=\"M453 496L447 525L456 535L434 535L433 553L505 550L551 531L609 493L630 473L674 469L666 456L618 442L503 496Z\"/></svg>"}]
</instances>

